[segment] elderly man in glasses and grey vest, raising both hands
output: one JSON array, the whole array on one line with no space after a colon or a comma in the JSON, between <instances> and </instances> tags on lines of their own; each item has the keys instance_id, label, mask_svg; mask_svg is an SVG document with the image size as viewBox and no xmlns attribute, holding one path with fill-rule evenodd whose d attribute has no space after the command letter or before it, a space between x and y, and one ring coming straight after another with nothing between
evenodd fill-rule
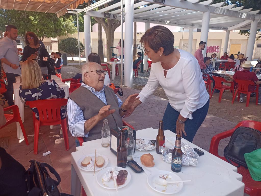
<instances>
[{"instance_id":1,"label":"elderly man in glasses and grey vest, raising both hands","mask_svg":"<svg viewBox=\"0 0 261 196\"><path fill-rule=\"evenodd\" d=\"M82 66L82 84L72 94L67 103L69 130L74 137L84 141L102 138L103 120L108 119L110 129L122 126L122 116L139 98L130 95L124 103L114 91L104 85L106 71L98 63ZM79 146L76 140L76 146Z\"/></svg>"}]
</instances>

